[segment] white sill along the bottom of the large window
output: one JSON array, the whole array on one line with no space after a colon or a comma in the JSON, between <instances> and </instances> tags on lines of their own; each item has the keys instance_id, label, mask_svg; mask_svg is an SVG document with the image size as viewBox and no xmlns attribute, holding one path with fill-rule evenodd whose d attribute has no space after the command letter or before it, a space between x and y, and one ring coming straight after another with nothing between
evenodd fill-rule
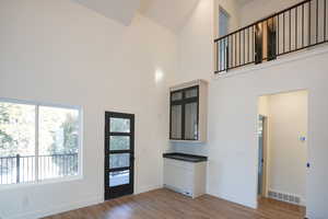
<instances>
[{"instance_id":1,"label":"white sill along the bottom of the large window","mask_svg":"<svg viewBox=\"0 0 328 219\"><path fill-rule=\"evenodd\" d=\"M48 185L48 184L68 183L68 182L81 181L81 180L83 180L82 175L74 175L74 176L66 176L66 177L61 177L61 178L44 180L44 181L39 181L39 182L0 185L0 192L1 191L10 191L10 189L19 189L19 188L28 188L28 187L34 187L34 186L43 186L43 185Z\"/></svg>"}]
</instances>

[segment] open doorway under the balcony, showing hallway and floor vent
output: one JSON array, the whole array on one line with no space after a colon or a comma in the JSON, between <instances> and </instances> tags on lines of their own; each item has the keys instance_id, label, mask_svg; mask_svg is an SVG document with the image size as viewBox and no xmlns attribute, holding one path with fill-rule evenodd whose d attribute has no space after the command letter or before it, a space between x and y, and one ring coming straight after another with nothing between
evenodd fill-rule
<instances>
[{"instance_id":1,"label":"open doorway under the balcony, showing hallway and floor vent","mask_svg":"<svg viewBox=\"0 0 328 219\"><path fill-rule=\"evenodd\" d=\"M306 90L259 97L257 118L259 205L266 199L274 199L283 203L281 206L293 205L293 208L305 211L308 173L307 117Z\"/></svg>"}]
</instances>

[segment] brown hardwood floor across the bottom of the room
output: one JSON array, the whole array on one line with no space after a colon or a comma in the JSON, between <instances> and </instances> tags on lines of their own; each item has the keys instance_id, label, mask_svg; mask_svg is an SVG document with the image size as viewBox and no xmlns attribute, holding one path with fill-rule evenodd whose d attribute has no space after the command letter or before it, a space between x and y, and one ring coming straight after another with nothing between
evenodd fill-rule
<instances>
[{"instance_id":1,"label":"brown hardwood floor across the bottom of the room","mask_svg":"<svg viewBox=\"0 0 328 219\"><path fill-rule=\"evenodd\" d=\"M303 219L303 207L260 199L258 209L204 195L191 199L168 189L126 196L46 219Z\"/></svg>"}]
</instances>

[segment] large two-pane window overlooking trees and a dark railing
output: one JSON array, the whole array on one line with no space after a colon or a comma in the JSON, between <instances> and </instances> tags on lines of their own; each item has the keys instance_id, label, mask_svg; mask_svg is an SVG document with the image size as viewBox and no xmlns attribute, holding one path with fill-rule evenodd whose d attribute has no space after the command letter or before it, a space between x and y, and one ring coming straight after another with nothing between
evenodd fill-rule
<instances>
[{"instance_id":1,"label":"large two-pane window overlooking trees and a dark railing","mask_svg":"<svg viewBox=\"0 0 328 219\"><path fill-rule=\"evenodd\" d=\"M81 112L0 100L0 184L80 175Z\"/></svg>"}]
</instances>

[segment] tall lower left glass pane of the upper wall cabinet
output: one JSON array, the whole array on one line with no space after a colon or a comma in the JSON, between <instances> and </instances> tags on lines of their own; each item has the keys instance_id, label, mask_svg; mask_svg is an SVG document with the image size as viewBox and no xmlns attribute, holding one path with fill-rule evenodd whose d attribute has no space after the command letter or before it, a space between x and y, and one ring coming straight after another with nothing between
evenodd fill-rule
<instances>
[{"instance_id":1,"label":"tall lower left glass pane of the upper wall cabinet","mask_svg":"<svg viewBox=\"0 0 328 219\"><path fill-rule=\"evenodd\" d=\"M171 139L183 138L183 105L171 106Z\"/></svg>"}]
</instances>

